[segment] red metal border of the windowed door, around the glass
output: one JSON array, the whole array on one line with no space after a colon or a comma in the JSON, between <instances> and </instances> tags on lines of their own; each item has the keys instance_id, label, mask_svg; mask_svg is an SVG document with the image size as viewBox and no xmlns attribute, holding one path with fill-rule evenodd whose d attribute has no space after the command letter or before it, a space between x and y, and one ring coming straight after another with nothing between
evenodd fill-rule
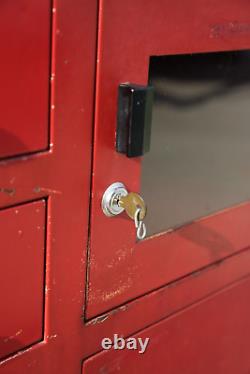
<instances>
[{"instance_id":1,"label":"red metal border of the windowed door, around the glass","mask_svg":"<svg viewBox=\"0 0 250 374\"><path fill-rule=\"evenodd\" d=\"M87 318L250 246L249 204L138 244L133 222L100 209L113 182L140 190L140 159L115 151L118 85L147 84L152 55L244 48L247 0L101 1Z\"/></svg>"}]
</instances>

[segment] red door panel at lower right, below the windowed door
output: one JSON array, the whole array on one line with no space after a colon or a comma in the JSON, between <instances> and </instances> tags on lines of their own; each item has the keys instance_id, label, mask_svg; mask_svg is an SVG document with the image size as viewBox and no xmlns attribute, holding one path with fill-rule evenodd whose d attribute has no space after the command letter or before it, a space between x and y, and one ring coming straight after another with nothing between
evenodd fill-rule
<instances>
[{"instance_id":1,"label":"red door panel at lower right, below the windowed door","mask_svg":"<svg viewBox=\"0 0 250 374\"><path fill-rule=\"evenodd\" d=\"M82 373L249 373L249 292L248 278L134 335L150 338L143 354L111 348Z\"/></svg>"}]
</instances>

